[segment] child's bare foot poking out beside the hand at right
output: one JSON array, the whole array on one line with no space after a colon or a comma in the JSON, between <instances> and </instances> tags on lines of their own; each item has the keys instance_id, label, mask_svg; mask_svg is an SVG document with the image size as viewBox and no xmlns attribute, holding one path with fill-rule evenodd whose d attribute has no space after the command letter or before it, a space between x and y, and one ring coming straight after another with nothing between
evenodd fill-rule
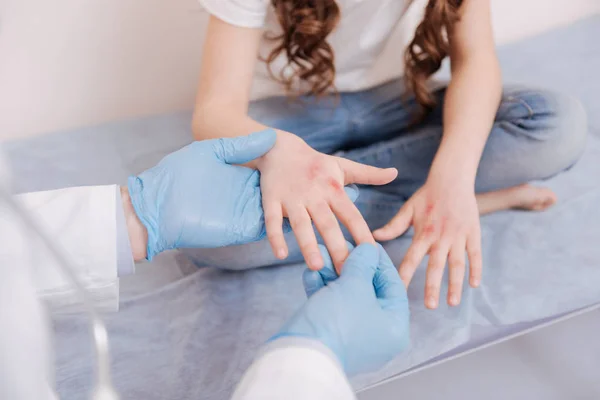
<instances>
[{"instance_id":1,"label":"child's bare foot poking out beside the hand at right","mask_svg":"<svg viewBox=\"0 0 600 400\"><path fill-rule=\"evenodd\" d=\"M477 195L477 205L481 215L511 208L543 211L554 203L556 203L556 195L550 189L528 184Z\"/></svg>"}]
</instances>

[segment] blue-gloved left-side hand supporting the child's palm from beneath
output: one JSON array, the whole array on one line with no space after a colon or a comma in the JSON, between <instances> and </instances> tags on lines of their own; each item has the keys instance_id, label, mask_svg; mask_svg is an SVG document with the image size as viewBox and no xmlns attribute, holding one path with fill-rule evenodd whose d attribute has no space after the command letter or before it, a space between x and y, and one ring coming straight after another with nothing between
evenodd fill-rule
<instances>
[{"instance_id":1,"label":"blue-gloved left-side hand supporting the child's palm from beneath","mask_svg":"<svg viewBox=\"0 0 600 400\"><path fill-rule=\"evenodd\" d=\"M260 173L233 164L264 155L275 140L275 131L265 130L194 142L130 177L130 206L147 231L143 257L151 260L165 250L228 246L265 237ZM127 214L127 205L125 210Z\"/></svg>"}]
</instances>

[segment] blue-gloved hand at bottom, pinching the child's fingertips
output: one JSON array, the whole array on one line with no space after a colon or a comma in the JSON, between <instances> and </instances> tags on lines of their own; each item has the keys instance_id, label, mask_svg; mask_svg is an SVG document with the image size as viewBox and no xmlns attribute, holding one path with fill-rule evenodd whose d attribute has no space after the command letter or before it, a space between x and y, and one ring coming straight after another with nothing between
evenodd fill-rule
<instances>
[{"instance_id":1,"label":"blue-gloved hand at bottom, pinching the child's fingertips","mask_svg":"<svg viewBox=\"0 0 600 400\"><path fill-rule=\"evenodd\" d=\"M308 301L271 340L319 340L348 375L381 368L409 343L408 299L394 264L381 245L361 244L338 278L320 247L325 267L303 276Z\"/></svg>"}]
</instances>

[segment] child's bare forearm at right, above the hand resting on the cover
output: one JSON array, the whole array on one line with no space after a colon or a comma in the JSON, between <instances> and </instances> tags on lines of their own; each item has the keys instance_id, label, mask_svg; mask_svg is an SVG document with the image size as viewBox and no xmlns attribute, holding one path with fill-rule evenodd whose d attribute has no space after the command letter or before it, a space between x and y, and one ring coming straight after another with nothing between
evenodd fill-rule
<instances>
[{"instance_id":1,"label":"child's bare forearm at right, above the hand resting on the cover","mask_svg":"<svg viewBox=\"0 0 600 400\"><path fill-rule=\"evenodd\" d=\"M489 0L465 0L449 32L452 79L444 100L444 136L433 164L471 185L492 128L502 77L496 56Z\"/></svg>"}]
</instances>

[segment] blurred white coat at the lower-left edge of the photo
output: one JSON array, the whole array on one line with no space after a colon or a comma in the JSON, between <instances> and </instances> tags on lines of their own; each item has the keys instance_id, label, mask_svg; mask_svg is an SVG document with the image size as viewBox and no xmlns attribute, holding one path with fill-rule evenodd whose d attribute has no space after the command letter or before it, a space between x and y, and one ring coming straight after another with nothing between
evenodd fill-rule
<instances>
[{"instance_id":1,"label":"blurred white coat at the lower-left edge of the photo","mask_svg":"<svg viewBox=\"0 0 600 400\"><path fill-rule=\"evenodd\" d=\"M57 399L49 321L31 266L15 262L15 254L30 250L25 233L0 199L0 399Z\"/></svg>"}]
</instances>

